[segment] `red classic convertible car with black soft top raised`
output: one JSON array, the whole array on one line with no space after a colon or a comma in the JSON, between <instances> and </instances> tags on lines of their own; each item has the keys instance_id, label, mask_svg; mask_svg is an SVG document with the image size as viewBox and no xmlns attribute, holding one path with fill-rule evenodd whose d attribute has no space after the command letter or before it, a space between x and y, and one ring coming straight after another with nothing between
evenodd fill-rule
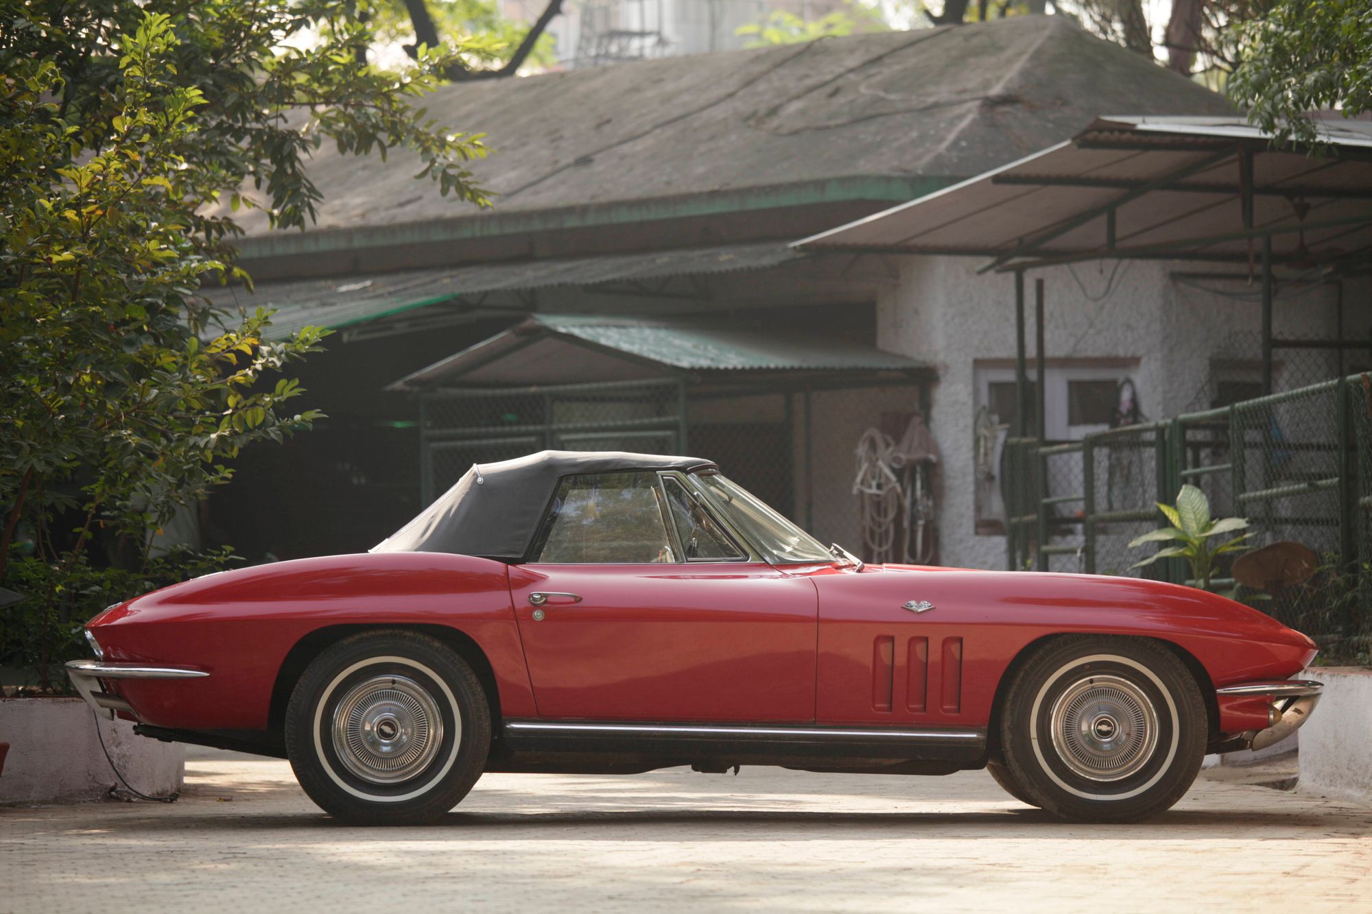
<instances>
[{"instance_id":1,"label":"red classic convertible car with black soft top raised","mask_svg":"<svg viewBox=\"0 0 1372 914\"><path fill-rule=\"evenodd\" d=\"M69 664L159 740L287 758L333 815L418 822L483 771L989 769L1077 821L1176 803L1320 683L1305 635L1132 578L863 564L690 457L472 467L358 556L188 581Z\"/></svg>"}]
</instances>

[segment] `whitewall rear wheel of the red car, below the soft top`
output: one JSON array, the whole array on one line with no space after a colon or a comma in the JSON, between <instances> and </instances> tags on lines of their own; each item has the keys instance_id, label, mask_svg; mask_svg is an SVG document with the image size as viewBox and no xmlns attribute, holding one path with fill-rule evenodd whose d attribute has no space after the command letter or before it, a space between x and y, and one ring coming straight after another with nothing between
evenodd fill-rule
<instances>
[{"instance_id":1,"label":"whitewall rear wheel of the red car, below the soft top","mask_svg":"<svg viewBox=\"0 0 1372 914\"><path fill-rule=\"evenodd\" d=\"M285 751L300 786L358 825L443 815L476 784L490 742L476 674L414 631L335 644L306 668L285 712Z\"/></svg>"}]
</instances>

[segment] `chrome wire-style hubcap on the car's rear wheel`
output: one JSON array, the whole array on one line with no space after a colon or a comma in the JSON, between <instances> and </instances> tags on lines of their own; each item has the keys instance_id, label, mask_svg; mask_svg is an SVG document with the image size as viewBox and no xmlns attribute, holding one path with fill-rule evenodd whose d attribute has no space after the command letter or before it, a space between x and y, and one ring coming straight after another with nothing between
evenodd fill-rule
<instances>
[{"instance_id":1,"label":"chrome wire-style hubcap on the car's rear wheel","mask_svg":"<svg viewBox=\"0 0 1372 914\"><path fill-rule=\"evenodd\" d=\"M354 775L397 784L420 774L443 742L438 703L407 677L372 677L333 710L333 751Z\"/></svg>"}]
</instances>

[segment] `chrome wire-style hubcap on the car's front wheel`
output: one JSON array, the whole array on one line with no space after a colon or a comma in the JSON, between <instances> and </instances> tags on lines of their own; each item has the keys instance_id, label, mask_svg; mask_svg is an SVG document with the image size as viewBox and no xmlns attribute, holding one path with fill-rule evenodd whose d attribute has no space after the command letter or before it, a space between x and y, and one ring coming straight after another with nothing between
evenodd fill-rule
<instances>
[{"instance_id":1,"label":"chrome wire-style hubcap on the car's front wheel","mask_svg":"<svg viewBox=\"0 0 1372 914\"><path fill-rule=\"evenodd\" d=\"M1158 745L1158 715L1143 690L1113 675L1073 682L1052 705L1052 747L1091 781L1136 774Z\"/></svg>"}]
</instances>

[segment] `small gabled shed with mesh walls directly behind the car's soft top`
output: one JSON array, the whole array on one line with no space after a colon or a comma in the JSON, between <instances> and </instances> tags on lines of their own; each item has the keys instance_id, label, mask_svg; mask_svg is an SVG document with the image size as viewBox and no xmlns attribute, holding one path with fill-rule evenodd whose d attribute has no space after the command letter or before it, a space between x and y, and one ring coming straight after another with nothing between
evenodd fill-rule
<instances>
[{"instance_id":1,"label":"small gabled shed with mesh walls directly behind the car's soft top","mask_svg":"<svg viewBox=\"0 0 1372 914\"><path fill-rule=\"evenodd\" d=\"M421 500L473 464L543 449L708 454L820 535L853 542L825 491L851 476L844 398L927 408L919 361L766 327L538 314L395 382L418 395ZM860 430L856 430L860 431ZM830 446L831 443L837 447Z\"/></svg>"}]
</instances>

